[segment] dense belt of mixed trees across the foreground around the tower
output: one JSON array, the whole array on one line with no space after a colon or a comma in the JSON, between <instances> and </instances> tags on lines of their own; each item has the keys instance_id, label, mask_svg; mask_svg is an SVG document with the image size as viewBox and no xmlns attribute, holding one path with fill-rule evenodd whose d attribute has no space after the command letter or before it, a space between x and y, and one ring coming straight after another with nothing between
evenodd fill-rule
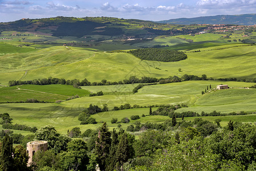
<instances>
[{"instance_id":1,"label":"dense belt of mixed trees across the foreground around the tower","mask_svg":"<svg viewBox=\"0 0 256 171\"><path fill-rule=\"evenodd\" d=\"M221 120L220 120L221 121ZM47 140L48 150L28 156L22 146L13 148L6 134L2 140L2 170L254 170L256 169L256 126L230 121L224 128L220 121L201 118L193 121L165 120L163 123L136 121L127 131L140 131L135 136L107 124L97 130L79 128L60 135L51 125L40 128L36 140ZM87 143L78 137L87 137ZM27 140L29 141L29 140Z\"/></svg>"}]
</instances>

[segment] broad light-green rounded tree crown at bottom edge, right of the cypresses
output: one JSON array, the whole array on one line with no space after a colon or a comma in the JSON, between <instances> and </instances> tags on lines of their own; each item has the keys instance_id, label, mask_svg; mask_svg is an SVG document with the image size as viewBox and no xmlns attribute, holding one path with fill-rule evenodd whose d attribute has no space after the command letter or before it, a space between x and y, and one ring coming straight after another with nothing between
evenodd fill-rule
<instances>
[{"instance_id":1,"label":"broad light-green rounded tree crown at bottom edge, right of the cypresses","mask_svg":"<svg viewBox=\"0 0 256 171\"><path fill-rule=\"evenodd\" d=\"M156 157L152 170L215 170L214 154L204 153L200 140L172 145Z\"/></svg>"}]
</instances>

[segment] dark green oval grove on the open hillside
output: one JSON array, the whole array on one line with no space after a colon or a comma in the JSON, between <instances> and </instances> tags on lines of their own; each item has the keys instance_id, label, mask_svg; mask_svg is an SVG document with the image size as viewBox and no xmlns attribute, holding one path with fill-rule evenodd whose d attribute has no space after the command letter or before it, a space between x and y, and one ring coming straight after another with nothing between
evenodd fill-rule
<instances>
[{"instance_id":1,"label":"dark green oval grove on the open hillside","mask_svg":"<svg viewBox=\"0 0 256 171\"><path fill-rule=\"evenodd\" d=\"M140 48L137 50L128 51L128 53L133 54L137 58L143 60L155 60L160 62L175 62L187 58L184 52L170 51L159 48Z\"/></svg>"}]
</instances>

